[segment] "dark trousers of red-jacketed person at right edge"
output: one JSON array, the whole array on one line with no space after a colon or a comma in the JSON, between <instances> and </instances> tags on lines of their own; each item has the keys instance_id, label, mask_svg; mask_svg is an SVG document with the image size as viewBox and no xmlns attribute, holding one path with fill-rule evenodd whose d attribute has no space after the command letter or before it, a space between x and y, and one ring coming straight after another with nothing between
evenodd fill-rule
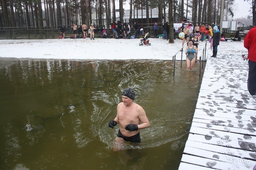
<instances>
[{"instance_id":1,"label":"dark trousers of red-jacketed person at right edge","mask_svg":"<svg viewBox=\"0 0 256 170\"><path fill-rule=\"evenodd\" d=\"M256 62L248 60L249 73L247 80L248 91L251 95L256 95Z\"/></svg>"}]
</instances>

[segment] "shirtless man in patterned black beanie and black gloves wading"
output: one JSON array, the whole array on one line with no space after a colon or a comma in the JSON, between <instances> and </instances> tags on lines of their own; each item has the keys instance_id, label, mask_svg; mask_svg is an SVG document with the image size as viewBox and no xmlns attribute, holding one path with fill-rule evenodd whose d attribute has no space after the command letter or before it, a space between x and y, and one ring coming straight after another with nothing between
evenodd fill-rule
<instances>
[{"instance_id":1,"label":"shirtless man in patterned black beanie and black gloves wading","mask_svg":"<svg viewBox=\"0 0 256 170\"><path fill-rule=\"evenodd\" d=\"M115 146L113 151L119 151L118 145L122 145L125 141L140 143L140 129L150 126L146 112L144 109L133 103L135 92L131 88L126 88L122 92L122 101L117 105L116 118L108 123L108 127L114 128L120 123ZM140 122L142 122L140 124Z\"/></svg>"}]
</instances>

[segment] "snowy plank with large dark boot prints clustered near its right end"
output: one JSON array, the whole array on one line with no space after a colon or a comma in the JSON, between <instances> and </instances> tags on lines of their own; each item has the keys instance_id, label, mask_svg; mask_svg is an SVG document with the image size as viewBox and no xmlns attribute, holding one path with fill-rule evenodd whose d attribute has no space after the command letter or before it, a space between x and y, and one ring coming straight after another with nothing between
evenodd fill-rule
<instances>
[{"instance_id":1,"label":"snowy plank with large dark boot prints clustered near its right end","mask_svg":"<svg viewBox=\"0 0 256 170\"><path fill-rule=\"evenodd\" d=\"M230 135L233 135L234 133L226 132L225 133L226 136L225 135L223 136L224 133L219 133L216 130L212 132L208 130L209 133L205 133L205 135L199 135L196 133L193 134L193 132L196 132L194 130L201 130L203 128L200 129L200 128L191 127L191 129L193 129L193 131L189 133L188 140L206 143L206 144L213 144L213 145L231 147L236 149L242 149L245 151L252 151L252 152L256 151L255 143L253 143L255 140L251 142L247 142L248 140L244 139L243 135L236 135L236 137L238 138L235 138L235 136L231 136L232 139L230 139Z\"/></svg>"}]
</instances>

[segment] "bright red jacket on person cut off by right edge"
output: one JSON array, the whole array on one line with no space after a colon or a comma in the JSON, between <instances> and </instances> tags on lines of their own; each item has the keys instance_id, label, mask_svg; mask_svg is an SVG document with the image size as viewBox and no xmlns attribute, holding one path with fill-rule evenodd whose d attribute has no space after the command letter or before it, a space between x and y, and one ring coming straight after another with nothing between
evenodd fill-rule
<instances>
[{"instance_id":1,"label":"bright red jacket on person cut off by right edge","mask_svg":"<svg viewBox=\"0 0 256 170\"><path fill-rule=\"evenodd\" d=\"M251 28L244 38L244 47L248 49L248 59L256 62L256 26Z\"/></svg>"}]
</instances>

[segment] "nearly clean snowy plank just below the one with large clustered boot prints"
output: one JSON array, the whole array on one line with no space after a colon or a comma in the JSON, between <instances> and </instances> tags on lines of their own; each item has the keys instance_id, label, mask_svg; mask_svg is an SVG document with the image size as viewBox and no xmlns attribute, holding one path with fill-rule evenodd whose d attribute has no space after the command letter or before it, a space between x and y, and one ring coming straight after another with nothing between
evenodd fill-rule
<instances>
[{"instance_id":1,"label":"nearly clean snowy plank just below the one with large clustered boot prints","mask_svg":"<svg viewBox=\"0 0 256 170\"><path fill-rule=\"evenodd\" d=\"M188 140L186 142L186 147L190 146L193 148L203 149L206 151L212 151L216 153L222 153L225 155L230 156L236 156L239 158L245 158L245 159L256 159L256 153L251 151L244 151L242 149L235 149L235 148L229 148L229 147L223 147L219 145L213 145L213 144L206 144L202 142L196 142Z\"/></svg>"}]
</instances>

